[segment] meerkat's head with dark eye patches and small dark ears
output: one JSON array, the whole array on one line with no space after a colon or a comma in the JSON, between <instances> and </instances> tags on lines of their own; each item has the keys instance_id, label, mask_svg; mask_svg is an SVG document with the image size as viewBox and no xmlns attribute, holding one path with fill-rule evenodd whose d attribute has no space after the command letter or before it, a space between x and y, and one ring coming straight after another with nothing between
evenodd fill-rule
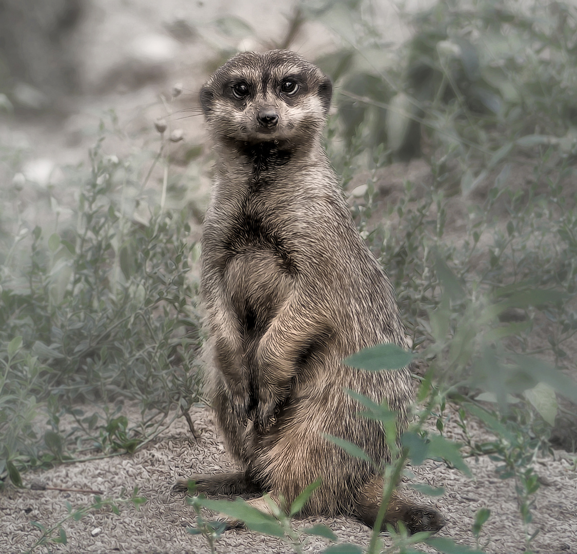
<instances>
[{"instance_id":1,"label":"meerkat's head with dark eye patches and small dark ears","mask_svg":"<svg viewBox=\"0 0 577 554\"><path fill-rule=\"evenodd\" d=\"M320 135L331 105L331 80L287 50L243 52L200 91L217 141L303 145Z\"/></svg>"}]
</instances>

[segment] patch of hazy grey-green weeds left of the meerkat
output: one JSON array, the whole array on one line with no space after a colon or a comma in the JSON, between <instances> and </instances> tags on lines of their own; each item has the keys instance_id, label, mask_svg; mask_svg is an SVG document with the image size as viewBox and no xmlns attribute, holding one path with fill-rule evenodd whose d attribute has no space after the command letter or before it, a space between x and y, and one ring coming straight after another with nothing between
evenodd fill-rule
<instances>
[{"instance_id":1,"label":"patch of hazy grey-green weeds left of the meerkat","mask_svg":"<svg viewBox=\"0 0 577 554\"><path fill-rule=\"evenodd\" d=\"M190 214L139 216L147 191L103 139L68 223L23 226L2 253L0 476L14 484L81 451L133 452L198 399Z\"/></svg>"}]
</instances>

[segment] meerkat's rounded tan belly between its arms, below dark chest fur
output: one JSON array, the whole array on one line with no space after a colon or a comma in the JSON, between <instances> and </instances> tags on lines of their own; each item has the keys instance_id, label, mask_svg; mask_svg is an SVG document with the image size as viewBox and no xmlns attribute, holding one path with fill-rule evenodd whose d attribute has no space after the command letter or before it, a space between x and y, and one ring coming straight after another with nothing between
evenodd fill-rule
<instances>
[{"instance_id":1,"label":"meerkat's rounded tan belly between its arms, below dark chest fur","mask_svg":"<svg viewBox=\"0 0 577 554\"><path fill-rule=\"evenodd\" d=\"M228 262L224 286L245 339L264 334L291 290L286 262L270 249L247 249Z\"/></svg>"}]
</instances>

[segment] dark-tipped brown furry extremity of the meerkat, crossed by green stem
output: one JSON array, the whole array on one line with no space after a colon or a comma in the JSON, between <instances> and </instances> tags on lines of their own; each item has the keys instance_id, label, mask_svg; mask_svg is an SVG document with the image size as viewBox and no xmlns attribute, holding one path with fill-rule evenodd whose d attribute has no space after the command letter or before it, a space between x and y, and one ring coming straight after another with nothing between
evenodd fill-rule
<instances>
[{"instance_id":1,"label":"dark-tipped brown furry extremity of the meerkat, crossed by green stem","mask_svg":"<svg viewBox=\"0 0 577 554\"><path fill-rule=\"evenodd\" d=\"M361 492L354 515L369 527L374 527L379 513L381 497L383 495L383 480L376 478ZM398 528L402 521L409 533L430 531L436 533L445 525L443 516L433 508L419 506L410 500L404 499L398 491L394 491L385 511L381 530L387 530L387 523Z\"/></svg>"}]
</instances>

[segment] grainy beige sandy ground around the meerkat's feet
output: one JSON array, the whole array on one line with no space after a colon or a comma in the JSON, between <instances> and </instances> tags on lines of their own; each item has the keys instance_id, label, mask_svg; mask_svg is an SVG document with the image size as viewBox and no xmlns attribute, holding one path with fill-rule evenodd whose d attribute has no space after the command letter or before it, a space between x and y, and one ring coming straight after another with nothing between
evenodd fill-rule
<instances>
[{"instance_id":1,"label":"grainy beige sandy ground around the meerkat's feet","mask_svg":"<svg viewBox=\"0 0 577 554\"><path fill-rule=\"evenodd\" d=\"M28 472L25 485L40 481L43 485L97 489L104 498L132 491L147 498L140 510L132 505L120 506L120 515L110 508L91 512L78 522L67 521L63 528L67 545L51 546L59 553L183 554L210 552L203 536L187 532L196 516L182 495L175 495L171 486L190 473L217 473L234 467L216 433L211 411L196 407L191 411L201 437L196 442L186 422L176 420L154 444L134 455L115 456L73 465L61 465L48 471ZM460 429L449 422L448 436L459 438ZM482 438L482 430L473 426L473 435ZM577 472L564 452L555 459L539 460L535 470L546 485L535 495L534 521L530 532L539 530L533 542L535 553L577 554ZM425 499L434 503L447 518L447 526L439 536L474 546L471 525L474 514L483 507L491 510L481 536L481 545L491 554L524 552L523 526L519 521L512 480L501 481L495 473L496 464L488 457L470 459L473 478L438 462L428 461L413 467L415 482L443 486L445 495ZM40 531L31 525L37 521L49 527L67 514L66 503L74 509L91 503L91 495L57 491L31 491L8 488L0 494L0 553L18 554L30 548ZM208 512L205 515L210 515ZM294 521L295 527L325 523L341 541L368 545L370 530L351 518L306 518ZM101 531L95 531L100 529ZM93 536L93 533L98 533ZM383 534L389 544L387 534ZM322 538L306 538L304 552L321 552L327 542ZM39 549L42 552L42 549ZM226 531L216 542L216 552L293 552L279 538L261 536L252 531ZM434 552L430 550L430 552Z\"/></svg>"}]
</instances>

